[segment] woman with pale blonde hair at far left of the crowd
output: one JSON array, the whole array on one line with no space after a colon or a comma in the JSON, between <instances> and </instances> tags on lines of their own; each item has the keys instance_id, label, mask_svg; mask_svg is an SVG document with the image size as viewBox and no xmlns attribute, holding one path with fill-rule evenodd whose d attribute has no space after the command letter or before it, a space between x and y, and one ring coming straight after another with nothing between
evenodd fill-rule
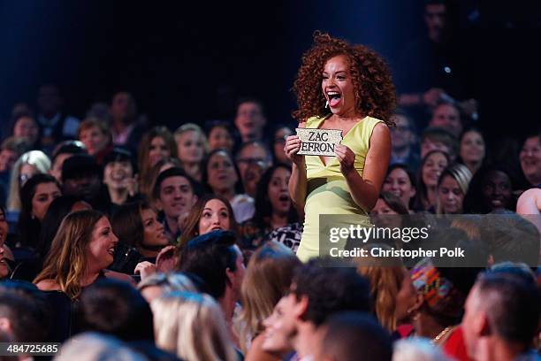
<instances>
[{"instance_id":1,"label":"woman with pale blonde hair at far left of the crowd","mask_svg":"<svg viewBox=\"0 0 541 361\"><path fill-rule=\"evenodd\" d=\"M47 173L50 159L41 150L30 150L19 157L11 169L10 191L7 200L9 212L19 212L21 203L20 188L36 173Z\"/></svg>"}]
</instances>

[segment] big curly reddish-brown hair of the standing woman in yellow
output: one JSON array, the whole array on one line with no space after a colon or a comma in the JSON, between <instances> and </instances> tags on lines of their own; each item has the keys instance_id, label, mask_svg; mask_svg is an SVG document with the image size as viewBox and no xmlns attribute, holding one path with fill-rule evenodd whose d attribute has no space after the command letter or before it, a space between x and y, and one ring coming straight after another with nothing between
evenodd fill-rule
<instances>
[{"instance_id":1,"label":"big curly reddish-brown hair of the standing woman in yellow","mask_svg":"<svg viewBox=\"0 0 541 361\"><path fill-rule=\"evenodd\" d=\"M356 110L393 126L391 115L396 107L396 92L383 58L364 45L350 45L320 31L314 33L314 45L302 56L302 65L293 83L299 105L292 113L293 118L304 121L328 113L321 92L322 73L327 60L338 55L349 59Z\"/></svg>"}]
</instances>

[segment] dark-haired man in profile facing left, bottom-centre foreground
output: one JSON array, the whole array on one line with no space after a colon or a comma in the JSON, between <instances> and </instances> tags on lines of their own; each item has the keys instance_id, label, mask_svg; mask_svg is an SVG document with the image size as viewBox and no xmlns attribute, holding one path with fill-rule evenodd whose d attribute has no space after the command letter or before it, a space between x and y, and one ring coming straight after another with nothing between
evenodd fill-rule
<instances>
[{"instance_id":1,"label":"dark-haired man in profile facing left, bottom-centre foreground","mask_svg":"<svg viewBox=\"0 0 541 361\"><path fill-rule=\"evenodd\" d=\"M339 311L370 311L370 284L351 268L331 268L313 259L295 270L291 292L264 321L263 349L276 352L279 340L289 340L298 359L317 355L324 340L324 322ZM278 340L278 341L277 341Z\"/></svg>"}]
</instances>

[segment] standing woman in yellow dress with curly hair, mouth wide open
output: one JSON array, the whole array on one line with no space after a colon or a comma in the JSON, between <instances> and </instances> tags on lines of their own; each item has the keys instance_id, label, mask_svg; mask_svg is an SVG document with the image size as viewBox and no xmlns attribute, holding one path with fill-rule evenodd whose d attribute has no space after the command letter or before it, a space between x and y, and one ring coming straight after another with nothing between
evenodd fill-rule
<instances>
[{"instance_id":1,"label":"standing woman in yellow dress with curly hair, mouth wide open","mask_svg":"<svg viewBox=\"0 0 541 361\"><path fill-rule=\"evenodd\" d=\"M388 126L396 94L385 62L363 45L316 32L293 84L299 127L339 129L335 157L301 156L301 140L287 137L293 162L289 192L304 207L305 223L297 256L319 255L319 215L368 214L377 202L391 156ZM346 226L347 227L347 226Z\"/></svg>"}]
</instances>

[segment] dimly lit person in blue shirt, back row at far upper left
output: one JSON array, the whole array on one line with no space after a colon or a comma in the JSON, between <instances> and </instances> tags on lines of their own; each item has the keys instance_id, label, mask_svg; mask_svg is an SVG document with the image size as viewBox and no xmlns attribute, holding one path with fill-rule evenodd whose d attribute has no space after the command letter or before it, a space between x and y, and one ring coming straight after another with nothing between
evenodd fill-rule
<instances>
[{"instance_id":1,"label":"dimly lit person in blue shirt, back row at far upper left","mask_svg":"<svg viewBox=\"0 0 541 361\"><path fill-rule=\"evenodd\" d=\"M47 150L66 139L73 139L79 128L79 119L62 112L64 99L54 84L45 84L38 91L37 121L42 128L42 147Z\"/></svg>"}]
</instances>

